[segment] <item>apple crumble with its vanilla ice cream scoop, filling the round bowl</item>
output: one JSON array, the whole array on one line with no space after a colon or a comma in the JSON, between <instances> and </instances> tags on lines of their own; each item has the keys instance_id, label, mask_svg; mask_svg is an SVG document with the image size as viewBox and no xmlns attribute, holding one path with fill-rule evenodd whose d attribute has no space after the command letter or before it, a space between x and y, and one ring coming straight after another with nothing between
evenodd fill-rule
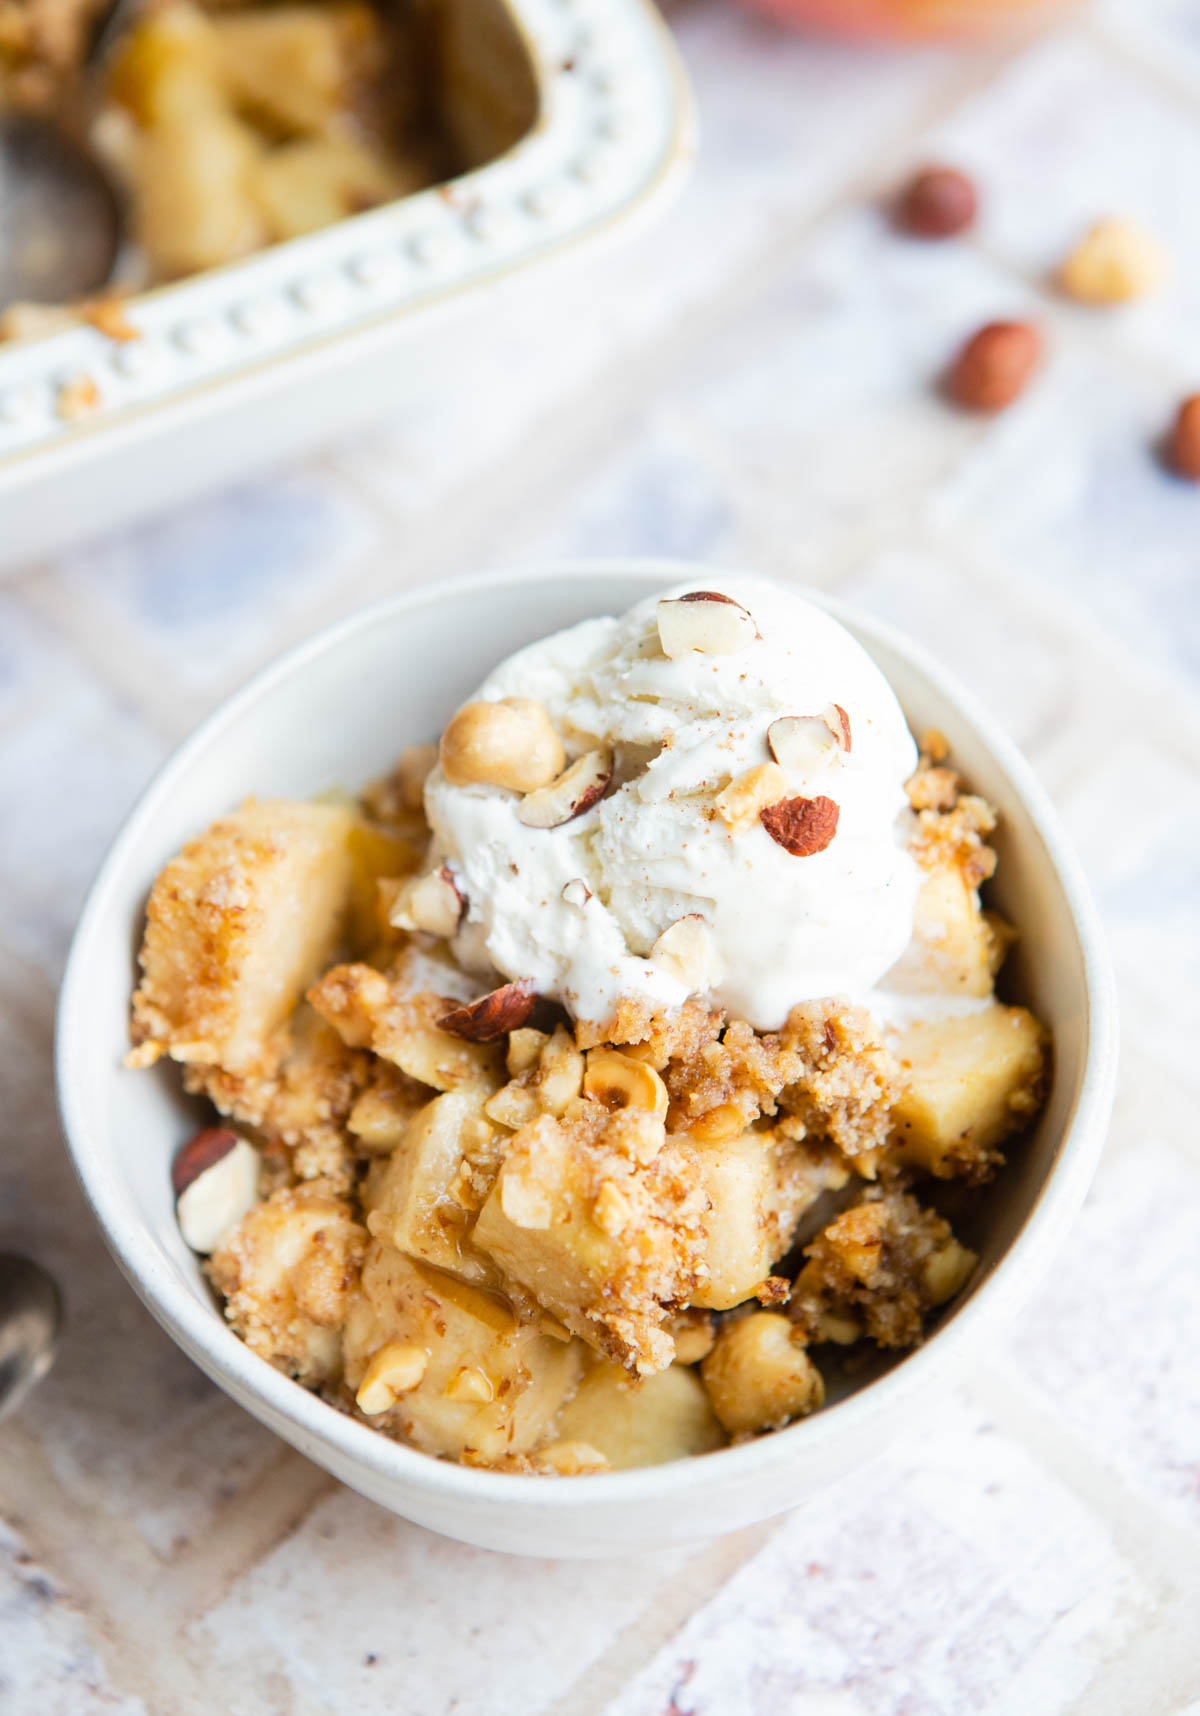
<instances>
[{"instance_id":1,"label":"apple crumble with its vanilla ice cream scoop, filling the round bowl","mask_svg":"<svg viewBox=\"0 0 1200 1716\"><path fill-rule=\"evenodd\" d=\"M184 1239L254 1352L386 1436L541 1474L702 1453L917 1345L972 1277L944 1211L975 1232L1049 1066L994 990L1016 934L980 901L996 815L937 734L917 753L826 616L814 650L845 695L793 705L817 669L788 628L817 611L766 592L563 635L570 707L522 652L537 697L505 700L501 671L357 801L247 803L155 884L130 1062L168 1057L216 1110L175 1157ZM606 704L621 638L625 697L658 685L628 717L654 743ZM682 753L706 722L726 738L697 786ZM621 904L603 849L630 822L670 887ZM864 851L817 868L843 839L888 843L879 897ZM786 915L761 942L736 915L724 939L728 855L759 918ZM618 942L621 911L651 921ZM829 923L853 942L864 916L826 992Z\"/></svg>"}]
</instances>

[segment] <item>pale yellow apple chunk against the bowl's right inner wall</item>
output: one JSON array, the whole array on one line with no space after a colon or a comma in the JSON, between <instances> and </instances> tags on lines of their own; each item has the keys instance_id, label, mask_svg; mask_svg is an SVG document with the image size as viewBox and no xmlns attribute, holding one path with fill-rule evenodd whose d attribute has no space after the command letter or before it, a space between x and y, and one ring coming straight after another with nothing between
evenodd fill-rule
<instances>
[{"instance_id":1,"label":"pale yellow apple chunk against the bowl's right inner wall","mask_svg":"<svg viewBox=\"0 0 1200 1716\"><path fill-rule=\"evenodd\" d=\"M992 1002L965 1018L912 1024L896 1055L900 1160L941 1179L980 1179L999 1145L1037 1112L1047 1036L1025 1007Z\"/></svg>"}]
</instances>

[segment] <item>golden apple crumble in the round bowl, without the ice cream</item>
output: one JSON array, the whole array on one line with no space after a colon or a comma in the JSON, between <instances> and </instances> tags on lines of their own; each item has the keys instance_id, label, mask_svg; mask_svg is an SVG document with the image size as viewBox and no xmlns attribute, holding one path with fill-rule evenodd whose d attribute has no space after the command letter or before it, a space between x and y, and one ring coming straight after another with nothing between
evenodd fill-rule
<instances>
[{"instance_id":1,"label":"golden apple crumble in the round bowl, without the ice cream","mask_svg":"<svg viewBox=\"0 0 1200 1716\"><path fill-rule=\"evenodd\" d=\"M757 1031L692 997L458 1035L479 988L397 928L427 767L251 803L153 891L130 1059L179 1060L261 1153L208 1263L237 1333L383 1435L541 1474L755 1435L864 1344L918 1344L975 1266L925 1187L997 1172L1049 1052L994 999L996 819L944 750L908 782L917 934L934 911L973 1007L906 1030L829 999Z\"/></svg>"}]
</instances>

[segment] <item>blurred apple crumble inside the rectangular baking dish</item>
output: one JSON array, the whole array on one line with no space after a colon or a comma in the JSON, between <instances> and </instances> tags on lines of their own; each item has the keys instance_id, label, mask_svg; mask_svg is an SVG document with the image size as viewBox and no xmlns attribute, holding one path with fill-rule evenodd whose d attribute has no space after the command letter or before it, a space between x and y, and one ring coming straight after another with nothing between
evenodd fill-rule
<instances>
[{"instance_id":1,"label":"blurred apple crumble inside the rectangular baking dish","mask_svg":"<svg viewBox=\"0 0 1200 1716\"><path fill-rule=\"evenodd\" d=\"M55 113L88 136L129 204L130 287L316 232L457 166L410 7L142 0L89 70L105 12L0 0L0 110ZM67 321L64 307L10 305L0 338Z\"/></svg>"}]
</instances>

